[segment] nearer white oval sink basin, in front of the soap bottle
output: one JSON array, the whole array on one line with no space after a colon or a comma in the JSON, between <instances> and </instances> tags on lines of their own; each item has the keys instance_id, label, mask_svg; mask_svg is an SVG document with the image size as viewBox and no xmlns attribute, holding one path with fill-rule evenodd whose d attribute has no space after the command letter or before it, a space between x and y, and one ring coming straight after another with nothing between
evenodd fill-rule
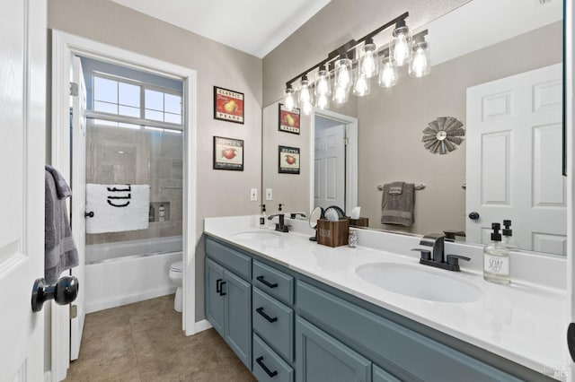
<instances>
[{"instance_id":1,"label":"nearer white oval sink basin, in front of the soap bottle","mask_svg":"<svg viewBox=\"0 0 575 382\"><path fill-rule=\"evenodd\" d=\"M436 302L473 302L481 300L482 291L449 271L431 272L427 265L374 263L360 265L358 276L376 287L420 300Z\"/></svg>"}]
</instances>

